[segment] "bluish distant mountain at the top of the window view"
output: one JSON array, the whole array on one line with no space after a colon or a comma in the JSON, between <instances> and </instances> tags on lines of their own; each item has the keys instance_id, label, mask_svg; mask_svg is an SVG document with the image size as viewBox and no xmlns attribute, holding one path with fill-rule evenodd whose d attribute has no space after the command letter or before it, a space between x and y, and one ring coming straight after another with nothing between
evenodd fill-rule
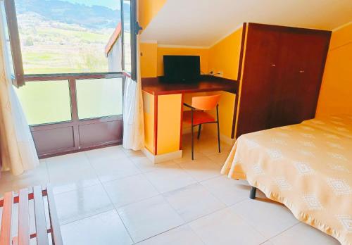
<instances>
[{"instance_id":1,"label":"bluish distant mountain at the top of the window view","mask_svg":"<svg viewBox=\"0 0 352 245\"><path fill-rule=\"evenodd\" d=\"M105 6L86 6L61 0L15 0L18 14L33 12L46 20L76 24L89 29L115 28L120 11ZM127 13L127 18L130 13Z\"/></svg>"}]
</instances>

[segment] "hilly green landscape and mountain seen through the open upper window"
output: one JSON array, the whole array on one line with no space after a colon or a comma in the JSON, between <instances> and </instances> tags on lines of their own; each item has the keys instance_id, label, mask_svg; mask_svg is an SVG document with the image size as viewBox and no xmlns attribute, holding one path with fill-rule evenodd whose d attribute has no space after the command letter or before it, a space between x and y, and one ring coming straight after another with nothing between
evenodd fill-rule
<instances>
[{"instance_id":1,"label":"hilly green landscape and mountain seen through the open upper window","mask_svg":"<svg viewBox=\"0 0 352 245\"><path fill-rule=\"evenodd\" d=\"M119 0L15 3L25 74L108 72L105 48L121 20Z\"/></svg>"}]
</instances>

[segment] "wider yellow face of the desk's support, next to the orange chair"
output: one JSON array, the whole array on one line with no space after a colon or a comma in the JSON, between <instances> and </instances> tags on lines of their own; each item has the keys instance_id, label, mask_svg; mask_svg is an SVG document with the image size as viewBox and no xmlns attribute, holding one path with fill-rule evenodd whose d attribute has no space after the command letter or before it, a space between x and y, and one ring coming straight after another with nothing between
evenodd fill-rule
<instances>
[{"instance_id":1,"label":"wider yellow face of the desk's support, next to the orange chair","mask_svg":"<svg viewBox=\"0 0 352 245\"><path fill-rule=\"evenodd\" d=\"M158 155L180 150L182 94L158 96Z\"/></svg>"}]
</instances>

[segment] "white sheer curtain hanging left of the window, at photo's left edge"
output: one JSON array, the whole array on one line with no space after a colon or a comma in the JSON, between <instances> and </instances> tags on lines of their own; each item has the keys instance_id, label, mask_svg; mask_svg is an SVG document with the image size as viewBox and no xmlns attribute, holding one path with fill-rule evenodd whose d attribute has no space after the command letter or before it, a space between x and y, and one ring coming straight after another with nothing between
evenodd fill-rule
<instances>
[{"instance_id":1,"label":"white sheer curtain hanging left of the window, at photo's left edge","mask_svg":"<svg viewBox=\"0 0 352 245\"><path fill-rule=\"evenodd\" d=\"M13 175L20 175L39 165L39 160L25 114L12 85L4 28L0 26L0 163L1 170L11 170Z\"/></svg>"}]
</instances>

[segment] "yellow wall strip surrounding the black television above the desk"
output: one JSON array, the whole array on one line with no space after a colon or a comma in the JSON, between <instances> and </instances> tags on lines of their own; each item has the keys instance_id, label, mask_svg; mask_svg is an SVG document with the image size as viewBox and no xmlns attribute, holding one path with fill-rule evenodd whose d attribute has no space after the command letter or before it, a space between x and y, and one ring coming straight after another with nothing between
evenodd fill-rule
<instances>
[{"instance_id":1,"label":"yellow wall strip surrounding the black television above the desk","mask_svg":"<svg viewBox=\"0 0 352 245\"><path fill-rule=\"evenodd\" d=\"M158 55L156 61L158 76L164 75L163 56L165 55L201 56L201 72L208 73L208 49L158 47Z\"/></svg>"}]
</instances>

